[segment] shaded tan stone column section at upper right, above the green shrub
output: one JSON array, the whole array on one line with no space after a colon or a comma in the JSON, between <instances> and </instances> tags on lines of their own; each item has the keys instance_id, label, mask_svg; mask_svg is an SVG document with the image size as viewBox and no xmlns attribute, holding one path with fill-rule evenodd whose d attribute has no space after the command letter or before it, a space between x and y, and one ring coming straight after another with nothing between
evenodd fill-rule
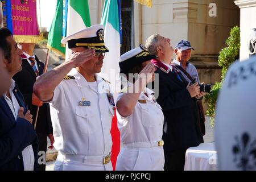
<instances>
[{"instance_id":1,"label":"shaded tan stone column section at upper right, above the green shrub","mask_svg":"<svg viewBox=\"0 0 256 182\"><path fill-rule=\"evenodd\" d=\"M217 16L209 16L209 4L216 3ZM240 13L232 0L189 0L188 39L194 54L218 55L225 47L230 28L239 26Z\"/></svg>"}]
</instances>

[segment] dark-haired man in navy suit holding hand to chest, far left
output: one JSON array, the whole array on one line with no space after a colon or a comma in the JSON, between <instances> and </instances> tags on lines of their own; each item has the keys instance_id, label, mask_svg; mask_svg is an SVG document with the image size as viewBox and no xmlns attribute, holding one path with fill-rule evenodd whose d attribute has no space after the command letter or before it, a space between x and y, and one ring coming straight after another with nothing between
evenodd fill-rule
<instances>
[{"instance_id":1,"label":"dark-haired man in navy suit holding hand to chest, far left","mask_svg":"<svg viewBox=\"0 0 256 182\"><path fill-rule=\"evenodd\" d=\"M10 78L22 69L22 51L7 28L0 27L0 48L9 84ZM13 79L5 91L0 97L0 170L35 170L38 137L31 125L32 115Z\"/></svg>"}]
</instances>

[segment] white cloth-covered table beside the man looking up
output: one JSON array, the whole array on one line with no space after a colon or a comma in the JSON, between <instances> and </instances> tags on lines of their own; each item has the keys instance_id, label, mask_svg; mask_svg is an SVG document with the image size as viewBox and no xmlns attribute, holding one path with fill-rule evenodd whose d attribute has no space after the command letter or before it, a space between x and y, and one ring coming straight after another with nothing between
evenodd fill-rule
<instances>
[{"instance_id":1,"label":"white cloth-covered table beside the man looking up","mask_svg":"<svg viewBox=\"0 0 256 182\"><path fill-rule=\"evenodd\" d=\"M217 151L214 143L190 147L185 154L184 171L216 171Z\"/></svg>"}]
</instances>

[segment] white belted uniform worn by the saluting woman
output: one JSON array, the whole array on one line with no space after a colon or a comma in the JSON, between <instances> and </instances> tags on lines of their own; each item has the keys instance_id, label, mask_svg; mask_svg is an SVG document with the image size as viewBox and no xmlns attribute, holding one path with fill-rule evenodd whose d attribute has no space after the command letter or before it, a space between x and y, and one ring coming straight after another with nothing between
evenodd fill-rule
<instances>
[{"instance_id":1,"label":"white belted uniform worn by the saluting woman","mask_svg":"<svg viewBox=\"0 0 256 182\"><path fill-rule=\"evenodd\" d=\"M117 158L117 170L163 170L164 152L158 143L162 141L164 115L153 93L145 88L129 117L122 117L117 111L118 129L123 143ZM117 101L122 95L119 94Z\"/></svg>"}]
</instances>

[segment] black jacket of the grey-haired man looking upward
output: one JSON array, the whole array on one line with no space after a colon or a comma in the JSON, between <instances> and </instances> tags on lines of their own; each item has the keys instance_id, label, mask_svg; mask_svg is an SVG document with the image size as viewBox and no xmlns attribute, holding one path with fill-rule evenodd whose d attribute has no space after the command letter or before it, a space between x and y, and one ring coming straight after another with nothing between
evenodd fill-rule
<instances>
[{"instance_id":1,"label":"black jacket of the grey-haired man looking upward","mask_svg":"<svg viewBox=\"0 0 256 182\"><path fill-rule=\"evenodd\" d=\"M187 82L182 82L174 73L165 73L159 68L155 73L159 74L157 102L163 109L165 120L163 127L164 150L186 150L203 143L197 101L195 98L191 98L186 89Z\"/></svg>"}]
</instances>

